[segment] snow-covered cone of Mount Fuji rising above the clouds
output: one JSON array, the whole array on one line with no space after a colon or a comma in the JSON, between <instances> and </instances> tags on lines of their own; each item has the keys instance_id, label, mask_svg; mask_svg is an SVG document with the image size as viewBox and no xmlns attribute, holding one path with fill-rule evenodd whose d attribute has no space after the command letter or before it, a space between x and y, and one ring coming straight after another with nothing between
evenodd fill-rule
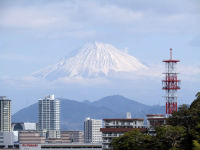
<instances>
[{"instance_id":1,"label":"snow-covered cone of Mount Fuji rising above the clouds","mask_svg":"<svg viewBox=\"0 0 200 150\"><path fill-rule=\"evenodd\" d=\"M94 42L85 44L76 54L65 57L32 75L49 81L60 78L96 78L112 73L137 72L147 69L138 59L110 44Z\"/></svg>"}]
</instances>

